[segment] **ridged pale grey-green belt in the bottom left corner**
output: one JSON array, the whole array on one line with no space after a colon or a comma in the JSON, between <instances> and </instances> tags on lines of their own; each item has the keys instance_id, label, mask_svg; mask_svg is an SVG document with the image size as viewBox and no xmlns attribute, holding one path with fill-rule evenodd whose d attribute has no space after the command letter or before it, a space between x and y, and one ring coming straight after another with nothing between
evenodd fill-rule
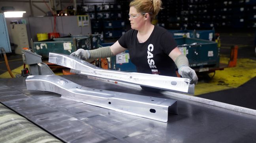
<instances>
[{"instance_id":1,"label":"ridged pale grey-green belt in the bottom left corner","mask_svg":"<svg viewBox=\"0 0 256 143\"><path fill-rule=\"evenodd\" d=\"M61 143L41 128L0 104L0 143Z\"/></svg>"}]
</instances>

